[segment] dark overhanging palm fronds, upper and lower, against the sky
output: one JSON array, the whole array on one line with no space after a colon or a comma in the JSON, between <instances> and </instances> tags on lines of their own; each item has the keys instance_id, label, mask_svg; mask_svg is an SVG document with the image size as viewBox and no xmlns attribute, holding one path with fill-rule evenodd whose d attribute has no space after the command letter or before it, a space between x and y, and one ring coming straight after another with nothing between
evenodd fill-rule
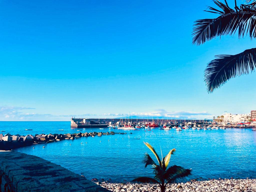
<instances>
[{"instance_id":1,"label":"dark overhanging palm fronds, upper and lower, against the sky","mask_svg":"<svg viewBox=\"0 0 256 192\"><path fill-rule=\"evenodd\" d=\"M213 2L218 8L208 7L206 12L219 14L213 19L199 19L195 21L193 28L193 44L200 45L217 36L234 35L238 31L238 37L247 34L250 38L256 38L256 0L247 0L249 4L237 6L234 9L218 0ZM256 68L256 48L247 49L236 55L217 55L210 61L205 69L205 82L207 91L213 92L221 87L229 79L248 74Z\"/></svg>"}]
</instances>

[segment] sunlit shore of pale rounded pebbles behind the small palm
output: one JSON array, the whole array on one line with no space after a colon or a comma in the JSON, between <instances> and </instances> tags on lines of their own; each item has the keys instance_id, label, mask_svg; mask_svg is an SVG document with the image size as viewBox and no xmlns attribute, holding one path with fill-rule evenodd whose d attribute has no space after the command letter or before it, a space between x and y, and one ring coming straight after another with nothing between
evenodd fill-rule
<instances>
[{"instance_id":1,"label":"sunlit shore of pale rounded pebbles behind the small palm","mask_svg":"<svg viewBox=\"0 0 256 192\"><path fill-rule=\"evenodd\" d=\"M153 192L161 191L155 184L111 183L108 181L96 184L114 192ZM256 179L211 179L205 181L190 181L187 183L170 184L166 192L254 192L256 191Z\"/></svg>"}]
</instances>

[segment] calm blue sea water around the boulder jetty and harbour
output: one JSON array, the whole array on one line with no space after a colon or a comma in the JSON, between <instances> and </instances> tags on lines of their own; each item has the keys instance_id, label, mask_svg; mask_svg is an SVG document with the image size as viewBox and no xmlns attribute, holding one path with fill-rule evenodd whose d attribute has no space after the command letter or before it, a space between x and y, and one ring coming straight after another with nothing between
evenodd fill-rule
<instances>
[{"instance_id":1,"label":"calm blue sea water around the boulder jetty and harbour","mask_svg":"<svg viewBox=\"0 0 256 192\"><path fill-rule=\"evenodd\" d=\"M0 130L24 135L77 132L77 129L71 130L70 122L0 122ZM92 131L109 130L95 128L81 132ZM16 151L44 158L75 173L82 173L88 179L123 181L137 176L152 176L150 167L145 169L142 163L145 152L154 157L143 144L145 141L153 145L159 155L160 146L163 155L176 148L169 165L192 168L193 174L187 179L256 178L256 131L251 129L113 131L127 134L82 137L73 141L23 147Z\"/></svg>"}]
</instances>

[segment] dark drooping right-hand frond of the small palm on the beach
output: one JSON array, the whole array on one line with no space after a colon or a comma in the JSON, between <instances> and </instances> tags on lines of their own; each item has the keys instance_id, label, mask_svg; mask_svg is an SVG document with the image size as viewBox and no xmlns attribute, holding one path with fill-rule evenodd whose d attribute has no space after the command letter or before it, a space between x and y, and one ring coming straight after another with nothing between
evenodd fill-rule
<instances>
[{"instance_id":1,"label":"dark drooping right-hand frond of the small palm on the beach","mask_svg":"<svg viewBox=\"0 0 256 192\"><path fill-rule=\"evenodd\" d=\"M191 171L191 169L184 169L183 167L177 165L169 167L164 175L164 178L167 180L166 184L174 183L178 179L187 177L191 174Z\"/></svg>"}]
</instances>

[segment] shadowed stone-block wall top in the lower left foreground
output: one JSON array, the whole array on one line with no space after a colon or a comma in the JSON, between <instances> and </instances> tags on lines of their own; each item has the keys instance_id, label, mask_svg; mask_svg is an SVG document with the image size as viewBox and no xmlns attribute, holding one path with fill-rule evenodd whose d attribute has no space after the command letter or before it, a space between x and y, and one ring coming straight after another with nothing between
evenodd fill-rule
<instances>
[{"instance_id":1,"label":"shadowed stone-block wall top in the lower left foreground","mask_svg":"<svg viewBox=\"0 0 256 192\"><path fill-rule=\"evenodd\" d=\"M1 192L108 191L60 165L19 152L0 152L0 187Z\"/></svg>"}]
</instances>

